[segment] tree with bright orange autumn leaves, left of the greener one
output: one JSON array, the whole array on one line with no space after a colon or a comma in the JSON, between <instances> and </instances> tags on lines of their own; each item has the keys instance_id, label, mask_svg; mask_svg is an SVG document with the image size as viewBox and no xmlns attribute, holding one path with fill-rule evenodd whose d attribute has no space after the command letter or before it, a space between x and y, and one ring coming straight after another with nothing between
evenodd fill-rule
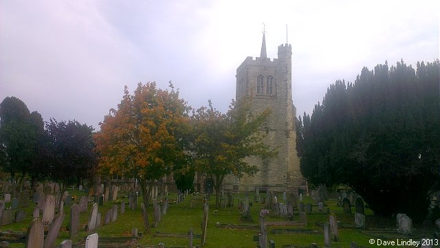
<instances>
[{"instance_id":1,"label":"tree with bright orange autumn leaves, left of the greener one","mask_svg":"<svg viewBox=\"0 0 440 248\"><path fill-rule=\"evenodd\" d=\"M189 109L171 83L170 91L157 89L155 82L139 83L133 95L125 87L118 109L110 110L95 135L101 172L136 178L148 206L153 181L176 165L186 168ZM146 216L144 223L149 232Z\"/></svg>"}]
</instances>

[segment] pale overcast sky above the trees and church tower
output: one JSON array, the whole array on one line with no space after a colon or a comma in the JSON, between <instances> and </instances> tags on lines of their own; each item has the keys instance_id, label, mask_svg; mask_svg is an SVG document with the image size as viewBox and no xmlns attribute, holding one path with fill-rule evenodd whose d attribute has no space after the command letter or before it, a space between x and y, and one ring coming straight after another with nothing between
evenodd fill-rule
<instances>
[{"instance_id":1,"label":"pale overcast sky above the trees and church tower","mask_svg":"<svg viewBox=\"0 0 440 248\"><path fill-rule=\"evenodd\" d=\"M440 1L0 0L0 101L99 130L137 82L168 81L194 108L227 111L236 68L292 44L297 115L362 67L439 58Z\"/></svg>"}]
</instances>

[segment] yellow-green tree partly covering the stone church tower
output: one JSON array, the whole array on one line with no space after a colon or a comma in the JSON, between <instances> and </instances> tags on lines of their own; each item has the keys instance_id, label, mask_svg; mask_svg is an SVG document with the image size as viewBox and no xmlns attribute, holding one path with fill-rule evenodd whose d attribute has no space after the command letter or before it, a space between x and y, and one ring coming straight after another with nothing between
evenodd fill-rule
<instances>
[{"instance_id":1,"label":"yellow-green tree partly covering the stone church tower","mask_svg":"<svg viewBox=\"0 0 440 248\"><path fill-rule=\"evenodd\" d=\"M220 189L227 175L241 178L244 174L258 172L246 157L272 157L274 148L263 143L261 128L270 109L254 113L251 98L232 101L228 113L201 107L192 115L195 141L193 143L194 164L199 174L212 179L215 189L216 207L220 207Z\"/></svg>"}]
</instances>

